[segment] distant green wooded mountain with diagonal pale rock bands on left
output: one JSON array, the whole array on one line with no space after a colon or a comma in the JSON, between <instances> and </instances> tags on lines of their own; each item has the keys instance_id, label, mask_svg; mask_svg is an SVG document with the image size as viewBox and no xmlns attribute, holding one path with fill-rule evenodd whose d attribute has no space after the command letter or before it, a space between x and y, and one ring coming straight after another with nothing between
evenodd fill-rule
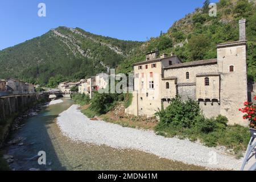
<instances>
[{"instance_id":1,"label":"distant green wooded mountain with diagonal pale rock bands on left","mask_svg":"<svg viewBox=\"0 0 256 182\"><path fill-rule=\"evenodd\" d=\"M79 80L115 68L141 44L58 27L0 51L0 78L21 78L40 85L50 78Z\"/></svg>"}]
</instances>

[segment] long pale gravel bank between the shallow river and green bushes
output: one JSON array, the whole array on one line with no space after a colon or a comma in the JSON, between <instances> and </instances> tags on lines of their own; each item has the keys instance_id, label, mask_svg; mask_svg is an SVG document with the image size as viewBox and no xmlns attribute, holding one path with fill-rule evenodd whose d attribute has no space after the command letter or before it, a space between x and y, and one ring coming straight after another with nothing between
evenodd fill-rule
<instances>
[{"instance_id":1,"label":"long pale gravel bank between the shallow river and green bushes","mask_svg":"<svg viewBox=\"0 0 256 182\"><path fill-rule=\"evenodd\" d=\"M215 148L209 148L189 140L164 138L153 131L122 127L104 121L91 121L72 105L57 118L61 132L77 142L106 144L123 149L133 148L160 158L177 160L187 164L208 168L239 169L242 159L224 154Z\"/></svg>"}]
</instances>

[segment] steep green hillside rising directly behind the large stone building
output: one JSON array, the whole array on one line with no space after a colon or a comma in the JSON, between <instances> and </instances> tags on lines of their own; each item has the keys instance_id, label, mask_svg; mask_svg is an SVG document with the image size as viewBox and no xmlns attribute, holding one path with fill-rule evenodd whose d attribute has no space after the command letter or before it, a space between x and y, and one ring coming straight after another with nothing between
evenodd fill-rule
<instances>
[{"instance_id":1,"label":"steep green hillside rising directly behind the large stone building","mask_svg":"<svg viewBox=\"0 0 256 182\"><path fill-rule=\"evenodd\" d=\"M256 81L256 7L248 0L220 0L217 17L209 16L209 1L187 14L158 38L151 38L119 65L119 72L129 72L131 64L145 59L145 53L175 53L184 61L217 57L216 44L239 40L238 20L246 18L247 66L249 80ZM183 47L178 45L182 43Z\"/></svg>"}]
</instances>

